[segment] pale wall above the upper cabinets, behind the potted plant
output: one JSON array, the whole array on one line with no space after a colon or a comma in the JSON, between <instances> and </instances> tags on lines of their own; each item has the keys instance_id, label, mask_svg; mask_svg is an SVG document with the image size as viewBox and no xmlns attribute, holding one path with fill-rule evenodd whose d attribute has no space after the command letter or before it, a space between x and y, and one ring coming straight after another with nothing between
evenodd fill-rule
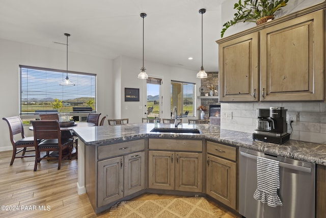
<instances>
[{"instance_id":1,"label":"pale wall above the upper cabinets, behind the potted plant","mask_svg":"<svg viewBox=\"0 0 326 218\"><path fill-rule=\"evenodd\" d=\"M236 9L233 9L234 3L237 1L225 1L222 3L222 13L221 13L221 30L223 29L223 24L229 20L233 19L233 14L236 11ZM243 1L242 1L243 2ZM285 7L282 7L280 11L277 11L275 14L275 18L284 16L286 14L291 14L295 11L299 11L305 8L308 8L309 6L317 5L318 3L322 3L324 1L322 0L290 0ZM255 27L256 23L254 22L239 22L236 25L233 25L229 27L223 37L230 36L232 34L236 34L238 32L250 29L252 27Z\"/></svg>"}]
</instances>

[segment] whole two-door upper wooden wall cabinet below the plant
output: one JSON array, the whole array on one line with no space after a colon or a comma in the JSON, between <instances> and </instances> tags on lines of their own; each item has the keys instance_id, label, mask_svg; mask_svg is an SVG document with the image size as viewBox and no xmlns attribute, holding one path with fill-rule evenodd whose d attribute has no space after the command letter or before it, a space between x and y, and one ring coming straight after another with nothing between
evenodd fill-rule
<instances>
[{"instance_id":1,"label":"whole two-door upper wooden wall cabinet below the plant","mask_svg":"<svg viewBox=\"0 0 326 218\"><path fill-rule=\"evenodd\" d=\"M220 101L324 100L324 7L217 41Z\"/></svg>"}]
</instances>

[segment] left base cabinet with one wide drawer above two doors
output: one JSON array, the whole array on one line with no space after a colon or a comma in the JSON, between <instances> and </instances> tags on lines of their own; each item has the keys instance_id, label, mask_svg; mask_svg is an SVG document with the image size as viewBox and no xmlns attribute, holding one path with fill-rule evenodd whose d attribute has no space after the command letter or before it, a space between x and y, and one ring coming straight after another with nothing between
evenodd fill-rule
<instances>
[{"instance_id":1,"label":"left base cabinet with one wide drawer above two doors","mask_svg":"<svg viewBox=\"0 0 326 218\"><path fill-rule=\"evenodd\" d=\"M96 212L145 189L145 139L86 146L87 195Z\"/></svg>"}]
</instances>

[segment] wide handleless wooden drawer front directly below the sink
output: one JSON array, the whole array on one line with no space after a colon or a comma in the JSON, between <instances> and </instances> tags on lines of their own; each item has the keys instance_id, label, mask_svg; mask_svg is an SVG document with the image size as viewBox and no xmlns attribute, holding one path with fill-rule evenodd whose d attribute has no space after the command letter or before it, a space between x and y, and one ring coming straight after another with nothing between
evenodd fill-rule
<instances>
[{"instance_id":1,"label":"wide handleless wooden drawer front directly below the sink","mask_svg":"<svg viewBox=\"0 0 326 218\"><path fill-rule=\"evenodd\" d=\"M155 150L173 150L173 151L203 151L202 140L189 139L157 139L150 138L148 148Z\"/></svg>"}]
</instances>

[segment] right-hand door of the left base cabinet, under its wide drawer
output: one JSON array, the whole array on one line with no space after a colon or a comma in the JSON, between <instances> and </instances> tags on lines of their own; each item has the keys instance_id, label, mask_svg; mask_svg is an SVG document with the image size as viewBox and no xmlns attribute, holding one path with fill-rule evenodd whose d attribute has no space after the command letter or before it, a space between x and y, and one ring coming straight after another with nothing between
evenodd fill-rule
<instances>
[{"instance_id":1,"label":"right-hand door of the left base cabinet, under its wide drawer","mask_svg":"<svg viewBox=\"0 0 326 218\"><path fill-rule=\"evenodd\" d=\"M145 152L124 156L124 196L145 188Z\"/></svg>"}]
</instances>

